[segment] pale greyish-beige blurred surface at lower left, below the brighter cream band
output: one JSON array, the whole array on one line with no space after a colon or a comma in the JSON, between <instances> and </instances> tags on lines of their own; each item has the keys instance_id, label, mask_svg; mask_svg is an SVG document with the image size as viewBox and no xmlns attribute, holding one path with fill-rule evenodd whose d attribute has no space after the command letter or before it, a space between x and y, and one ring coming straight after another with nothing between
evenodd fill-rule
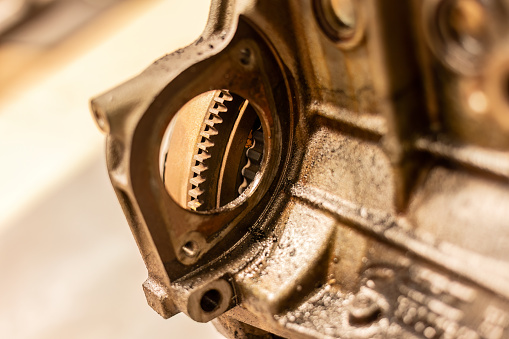
<instances>
[{"instance_id":1,"label":"pale greyish-beige blurred surface at lower left, below the brighter cream band","mask_svg":"<svg viewBox=\"0 0 509 339\"><path fill-rule=\"evenodd\" d=\"M147 305L147 276L102 154L0 237L0 338L222 338Z\"/></svg>"}]
</instances>

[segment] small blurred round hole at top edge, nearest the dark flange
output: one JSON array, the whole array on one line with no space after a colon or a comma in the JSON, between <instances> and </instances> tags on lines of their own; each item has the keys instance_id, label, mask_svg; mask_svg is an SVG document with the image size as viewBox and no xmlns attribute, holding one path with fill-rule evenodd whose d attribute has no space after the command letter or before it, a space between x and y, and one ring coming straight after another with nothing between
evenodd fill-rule
<instances>
[{"instance_id":1,"label":"small blurred round hole at top edge, nearest the dark flange","mask_svg":"<svg viewBox=\"0 0 509 339\"><path fill-rule=\"evenodd\" d=\"M353 37L357 25L353 0L315 0L314 8L320 26L331 39Z\"/></svg>"}]
</instances>

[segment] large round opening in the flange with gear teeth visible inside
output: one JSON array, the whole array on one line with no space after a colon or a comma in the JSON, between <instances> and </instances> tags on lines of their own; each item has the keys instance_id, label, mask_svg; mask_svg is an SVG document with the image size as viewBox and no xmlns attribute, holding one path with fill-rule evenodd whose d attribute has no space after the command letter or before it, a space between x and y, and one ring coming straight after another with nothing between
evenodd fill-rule
<instances>
[{"instance_id":1,"label":"large round opening in the flange with gear teeth visible inside","mask_svg":"<svg viewBox=\"0 0 509 339\"><path fill-rule=\"evenodd\" d=\"M166 190L182 207L211 211L246 195L264 160L261 119L228 90L203 93L172 119L160 150ZM252 191L249 191L252 192Z\"/></svg>"}]
</instances>

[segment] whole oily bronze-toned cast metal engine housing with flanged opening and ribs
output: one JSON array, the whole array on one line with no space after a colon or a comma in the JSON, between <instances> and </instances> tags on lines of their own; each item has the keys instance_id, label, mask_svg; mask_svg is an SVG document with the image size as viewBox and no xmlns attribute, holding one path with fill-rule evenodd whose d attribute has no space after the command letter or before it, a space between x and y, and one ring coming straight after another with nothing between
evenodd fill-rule
<instances>
[{"instance_id":1,"label":"whole oily bronze-toned cast metal engine housing with flanged opening and ribs","mask_svg":"<svg viewBox=\"0 0 509 339\"><path fill-rule=\"evenodd\" d=\"M509 337L508 11L213 1L92 100L149 305L231 338Z\"/></svg>"}]
</instances>

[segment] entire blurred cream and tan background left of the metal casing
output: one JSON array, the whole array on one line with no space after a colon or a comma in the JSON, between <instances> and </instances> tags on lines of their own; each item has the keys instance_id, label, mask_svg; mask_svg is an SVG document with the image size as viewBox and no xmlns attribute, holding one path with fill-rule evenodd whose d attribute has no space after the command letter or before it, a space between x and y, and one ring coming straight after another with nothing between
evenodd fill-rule
<instances>
[{"instance_id":1,"label":"entire blurred cream and tan background left of the metal casing","mask_svg":"<svg viewBox=\"0 0 509 339\"><path fill-rule=\"evenodd\" d=\"M0 0L0 338L221 338L145 301L92 96L203 30L210 0Z\"/></svg>"}]
</instances>

